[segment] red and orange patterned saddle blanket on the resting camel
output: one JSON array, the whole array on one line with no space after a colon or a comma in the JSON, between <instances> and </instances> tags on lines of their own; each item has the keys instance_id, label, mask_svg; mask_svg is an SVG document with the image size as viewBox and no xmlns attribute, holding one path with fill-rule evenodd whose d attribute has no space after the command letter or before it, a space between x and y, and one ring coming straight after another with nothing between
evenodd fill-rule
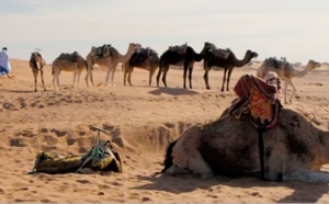
<instances>
[{"instance_id":1,"label":"red and orange patterned saddle blanket on the resting camel","mask_svg":"<svg viewBox=\"0 0 329 204\"><path fill-rule=\"evenodd\" d=\"M269 129L275 126L281 102L277 86L251 75L242 76L234 88L239 99L229 107L229 114L240 118L248 116L257 128Z\"/></svg>"}]
</instances>

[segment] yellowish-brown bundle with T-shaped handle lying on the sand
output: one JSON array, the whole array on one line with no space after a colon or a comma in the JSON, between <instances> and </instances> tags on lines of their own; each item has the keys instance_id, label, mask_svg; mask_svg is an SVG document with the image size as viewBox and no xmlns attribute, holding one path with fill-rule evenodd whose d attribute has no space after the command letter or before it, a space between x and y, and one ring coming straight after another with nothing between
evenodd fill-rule
<instances>
[{"instance_id":1,"label":"yellowish-brown bundle with T-shaped handle lying on the sand","mask_svg":"<svg viewBox=\"0 0 329 204\"><path fill-rule=\"evenodd\" d=\"M36 155L35 165L30 173L92 173L123 172L120 154L114 150L110 140L101 140L100 132L105 129L92 126L98 131L97 139L90 151L81 156L60 156L52 151L43 151Z\"/></svg>"}]
</instances>

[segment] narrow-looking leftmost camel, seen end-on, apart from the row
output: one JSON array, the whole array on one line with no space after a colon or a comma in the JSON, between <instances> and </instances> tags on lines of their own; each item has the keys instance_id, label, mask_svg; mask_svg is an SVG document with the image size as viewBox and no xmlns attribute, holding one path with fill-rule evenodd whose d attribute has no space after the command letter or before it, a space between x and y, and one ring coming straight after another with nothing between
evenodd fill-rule
<instances>
[{"instance_id":1,"label":"narrow-looking leftmost camel, seen end-on, apart from the row","mask_svg":"<svg viewBox=\"0 0 329 204\"><path fill-rule=\"evenodd\" d=\"M45 60L43 59L42 55L37 52L34 52L31 54L30 57L30 67L33 71L33 76L34 76L34 91L37 91L36 89L36 83L37 83L37 73L39 71L41 78L42 78L42 83L44 87L44 91L46 91L45 88L45 81L44 81L44 65L45 65Z\"/></svg>"}]
</instances>

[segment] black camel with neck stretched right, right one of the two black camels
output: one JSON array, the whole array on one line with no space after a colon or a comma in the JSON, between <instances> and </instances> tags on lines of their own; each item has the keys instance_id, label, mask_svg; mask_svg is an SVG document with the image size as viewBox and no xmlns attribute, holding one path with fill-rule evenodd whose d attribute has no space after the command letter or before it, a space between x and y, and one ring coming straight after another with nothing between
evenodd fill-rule
<instances>
[{"instance_id":1,"label":"black camel with neck stretched right, right one of the two black camels","mask_svg":"<svg viewBox=\"0 0 329 204\"><path fill-rule=\"evenodd\" d=\"M211 43L209 43L211 44ZM225 82L226 90L229 91L229 80L231 71L235 67L242 67L247 65L253 57L258 57L258 54L251 50L247 50L246 55L242 60L237 59L236 55L230 49L219 49L216 48L208 49L205 52L204 56L204 81L206 89L211 89L209 82L208 82L208 72L212 67L220 67L224 68L224 76L223 76L223 84L222 84L222 91L224 91ZM226 75L227 73L227 75Z\"/></svg>"}]
</instances>

